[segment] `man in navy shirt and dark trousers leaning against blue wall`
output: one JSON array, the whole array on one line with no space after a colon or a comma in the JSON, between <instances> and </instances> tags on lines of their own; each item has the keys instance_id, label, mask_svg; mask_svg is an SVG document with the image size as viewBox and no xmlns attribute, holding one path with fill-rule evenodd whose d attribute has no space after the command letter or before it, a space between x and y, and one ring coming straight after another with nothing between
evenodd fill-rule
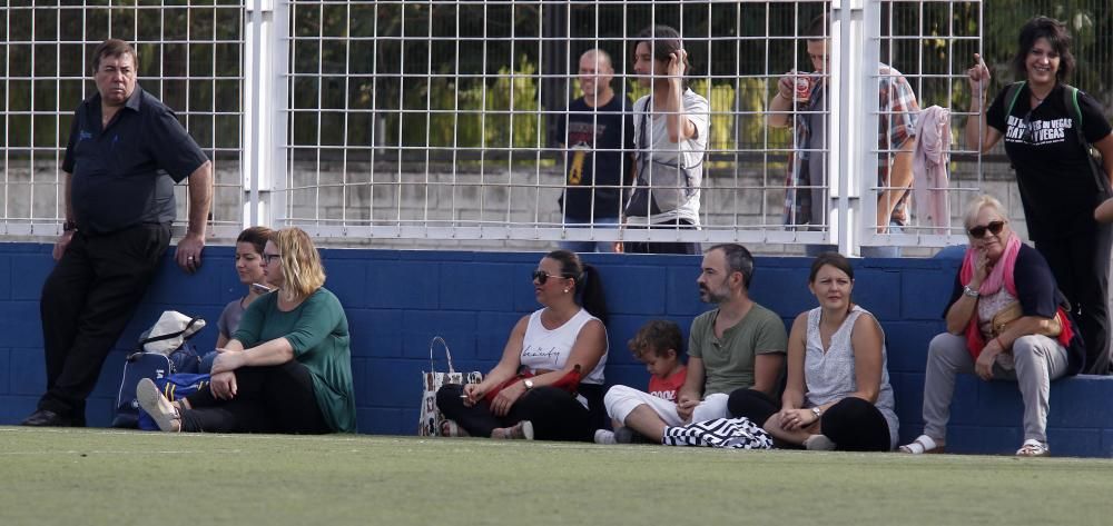
<instances>
[{"instance_id":1,"label":"man in navy shirt and dark trousers leaning against blue wall","mask_svg":"<svg viewBox=\"0 0 1113 526\"><path fill-rule=\"evenodd\" d=\"M24 426L85 426L86 398L169 245L174 185L186 177L189 228L175 259L187 274L201 265L213 165L174 111L136 85L138 66L121 40L92 54L97 92L75 111L66 222L42 286L47 393Z\"/></svg>"}]
</instances>

